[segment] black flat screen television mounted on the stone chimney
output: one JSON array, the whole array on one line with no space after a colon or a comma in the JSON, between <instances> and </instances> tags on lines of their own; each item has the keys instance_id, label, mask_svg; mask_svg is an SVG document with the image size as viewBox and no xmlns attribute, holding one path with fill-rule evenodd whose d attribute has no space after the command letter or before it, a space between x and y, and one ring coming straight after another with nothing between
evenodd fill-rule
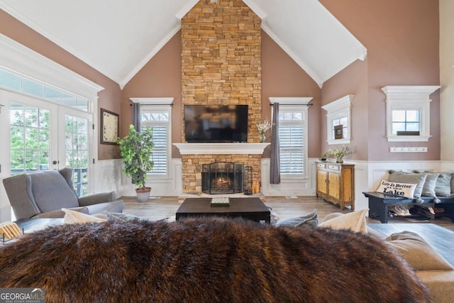
<instances>
[{"instance_id":1,"label":"black flat screen television mounted on the stone chimney","mask_svg":"<svg viewBox=\"0 0 454 303\"><path fill-rule=\"evenodd\" d=\"M247 142L248 105L184 105L188 143Z\"/></svg>"}]
</instances>

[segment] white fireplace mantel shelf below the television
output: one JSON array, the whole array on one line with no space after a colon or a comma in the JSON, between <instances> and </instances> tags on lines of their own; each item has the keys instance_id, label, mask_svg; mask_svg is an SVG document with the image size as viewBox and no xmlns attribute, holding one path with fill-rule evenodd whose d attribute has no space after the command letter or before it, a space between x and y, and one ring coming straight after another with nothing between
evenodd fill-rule
<instances>
[{"instance_id":1,"label":"white fireplace mantel shelf below the television","mask_svg":"<svg viewBox=\"0 0 454 303\"><path fill-rule=\"evenodd\" d=\"M182 155L261 155L270 143L173 143Z\"/></svg>"}]
</instances>

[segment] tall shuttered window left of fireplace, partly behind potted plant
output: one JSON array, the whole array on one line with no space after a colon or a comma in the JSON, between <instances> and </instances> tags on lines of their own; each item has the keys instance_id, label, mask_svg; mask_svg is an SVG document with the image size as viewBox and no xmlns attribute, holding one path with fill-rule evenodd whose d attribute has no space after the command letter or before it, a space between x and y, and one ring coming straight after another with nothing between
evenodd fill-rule
<instances>
[{"instance_id":1,"label":"tall shuttered window left of fireplace, partly behind potted plant","mask_svg":"<svg viewBox=\"0 0 454 303\"><path fill-rule=\"evenodd\" d=\"M140 103L140 127L153 128L153 170L150 177L168 177L172 155L172 101L173 98L133 98Z\"/></svg>"}]
</instances>

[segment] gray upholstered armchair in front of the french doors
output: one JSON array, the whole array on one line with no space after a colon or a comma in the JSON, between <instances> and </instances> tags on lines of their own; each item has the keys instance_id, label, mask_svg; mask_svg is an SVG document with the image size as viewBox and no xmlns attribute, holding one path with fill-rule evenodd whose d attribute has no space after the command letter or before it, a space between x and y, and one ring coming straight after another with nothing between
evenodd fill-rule
<instances>
[{"instance_id":1,"label":"gray upholstered armchair in front of the french doors","mask_svg":"<svg viewBox=\"0 0 454 303\"><path fill-rule=\"evenodd\" d=\"M16 220L62 218L65 216L62 208L85 214L123 211L123 201L115 200L115 192L77 197L72 187L72 169L67 167L15 175L4 179L3 183Z\"/></svg>"}]
</instances>

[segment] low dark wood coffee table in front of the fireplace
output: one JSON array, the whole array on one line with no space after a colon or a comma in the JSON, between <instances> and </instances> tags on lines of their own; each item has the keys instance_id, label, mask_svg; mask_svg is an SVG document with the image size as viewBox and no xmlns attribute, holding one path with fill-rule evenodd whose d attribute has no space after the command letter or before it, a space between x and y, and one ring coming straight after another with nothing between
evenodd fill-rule
<instances>
[{"instance_id":1,"label":"low dark wood coffee table in front of the fireplace","mask_svg":"<svg viewBox=\"0 0 454 303\"><path fill-rule=\"evenodd\" d=\"M228 206L211 206L211 198L186 198L177 210L176 219L189 216L224 216L271 223L271 211L260 198L230 198Z\"/></svg>"}]
</instances>

